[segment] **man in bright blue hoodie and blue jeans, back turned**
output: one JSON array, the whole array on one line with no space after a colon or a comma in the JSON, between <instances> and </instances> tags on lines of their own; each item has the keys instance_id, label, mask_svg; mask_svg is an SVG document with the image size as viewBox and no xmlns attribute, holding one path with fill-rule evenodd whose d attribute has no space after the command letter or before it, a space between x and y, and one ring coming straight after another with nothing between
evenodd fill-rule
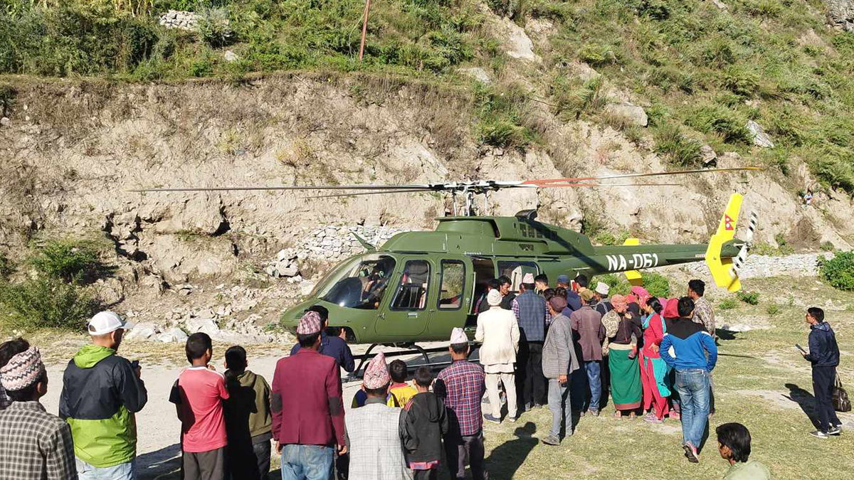
<instances>
[{"instance_id":1,"label":"man in bright blue hoodie and blue jeans, back turned","mask_svg":"<svg viewBox=\"0 0 854 480\"><path fill-rule=\"evenodd\" d=\"M709 421L709 374L717 363L717 347L703 325L691 320L693 309L693 300L687 296L679 299L679 319L668 327L659 351L661 359L676 370L682 448L689 461L699 463L697 447ZM670 347L673 347L672 355Z\"/></svg>"}]
</instances>

